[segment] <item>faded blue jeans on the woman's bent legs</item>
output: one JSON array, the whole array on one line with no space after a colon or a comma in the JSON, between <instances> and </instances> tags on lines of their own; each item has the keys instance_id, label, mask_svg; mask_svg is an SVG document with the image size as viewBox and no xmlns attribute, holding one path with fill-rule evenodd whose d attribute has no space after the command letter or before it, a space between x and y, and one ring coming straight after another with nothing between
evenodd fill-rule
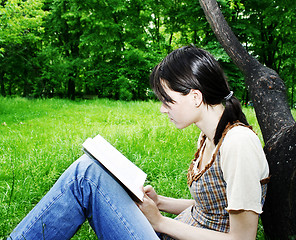
<instances>
[{"instance_id":1,"label":"faded blue jeans on the woman's bent legs","mask_svg":"<svg viewBox=\"0 0 296 240\"><path fill-rule=\"evenodd\" d=\"M70 239L86 219L99 239L159 239L121 185L87 155L62 174L8 239Z\"/></svg>"}]
</instances>

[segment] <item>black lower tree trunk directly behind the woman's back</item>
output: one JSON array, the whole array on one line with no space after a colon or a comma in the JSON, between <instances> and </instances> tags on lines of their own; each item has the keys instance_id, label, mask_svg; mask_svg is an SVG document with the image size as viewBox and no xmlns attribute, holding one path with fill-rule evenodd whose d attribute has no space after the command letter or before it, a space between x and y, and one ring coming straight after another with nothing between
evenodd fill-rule
<instances>
[{"instance_id":1,"label":"black lower tree trunk directly behind the woman's back","mask_svg":"<svg viewBox=\"0 0 296 240\"><path fill-rule=\"evenodd\" d=\"M282 129L265 147L272 181L262 222L268 239L296 239L296 124Z\"/></svg>"}]
</instances>

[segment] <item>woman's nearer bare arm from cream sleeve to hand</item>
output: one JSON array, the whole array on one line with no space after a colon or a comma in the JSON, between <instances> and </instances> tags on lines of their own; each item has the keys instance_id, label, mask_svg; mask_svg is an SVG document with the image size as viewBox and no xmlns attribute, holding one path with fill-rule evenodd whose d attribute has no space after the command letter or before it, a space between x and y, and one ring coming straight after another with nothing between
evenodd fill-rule
<instances>
[{"instance_id":1,"label":"woman's nearer bare arm from cream sleeve to hand","mask_svg":"<svg viewBox=\"0 0 296 240\"><path fill-rule=\"evenodd\" d=\"M150 221L155 231L165 233L175 239L203 240L254 240L256 239L258 214L253 211L230 211L230 231L221 233L187 225L180 221L164 217L158 211L154 201L145 195L139 208Z\"/></svg>"}]
</instances>

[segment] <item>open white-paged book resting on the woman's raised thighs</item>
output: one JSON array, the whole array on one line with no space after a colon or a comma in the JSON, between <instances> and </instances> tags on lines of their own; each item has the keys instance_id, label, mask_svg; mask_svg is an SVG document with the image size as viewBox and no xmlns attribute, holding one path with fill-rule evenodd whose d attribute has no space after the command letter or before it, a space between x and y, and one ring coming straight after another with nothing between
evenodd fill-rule
<instances>
[{"instance_id":1,"label":"open white-paged book resting on the woman's raised thighs","mask_svg":"<svg viewBox=\"0 0 296 240\"><path fill-rule=\"evenodd\" d=\"M82 146L87 155L98 160L118 179L129 194L133 194L132 197L136 197L135 200L143 201L142 188L147 177L146 173L122 155L101 135L86 139Z\"/></svg>"}]
</instances>

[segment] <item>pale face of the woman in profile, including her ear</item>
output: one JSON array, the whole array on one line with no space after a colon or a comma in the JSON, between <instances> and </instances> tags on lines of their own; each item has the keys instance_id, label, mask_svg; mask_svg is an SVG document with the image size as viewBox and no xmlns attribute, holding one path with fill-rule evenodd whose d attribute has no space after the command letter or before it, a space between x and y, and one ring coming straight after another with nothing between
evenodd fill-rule
<instances>
[{"instance_id":1,"label":"pale face of the woman in profile, including her ear","mask_svg":"<svg viewBox=\"0 0 296 240\"><path fill-rule=\"evenodd\" d=\"M167 106L162 104L160 112L167 113L178 129L186 128L199 121L200 113L197 106L201 104L202 96L198 90L191 90L187 95L173 91L166 86L164 90L175 102L168 103Z\"/></svg>"}]
</instances>

